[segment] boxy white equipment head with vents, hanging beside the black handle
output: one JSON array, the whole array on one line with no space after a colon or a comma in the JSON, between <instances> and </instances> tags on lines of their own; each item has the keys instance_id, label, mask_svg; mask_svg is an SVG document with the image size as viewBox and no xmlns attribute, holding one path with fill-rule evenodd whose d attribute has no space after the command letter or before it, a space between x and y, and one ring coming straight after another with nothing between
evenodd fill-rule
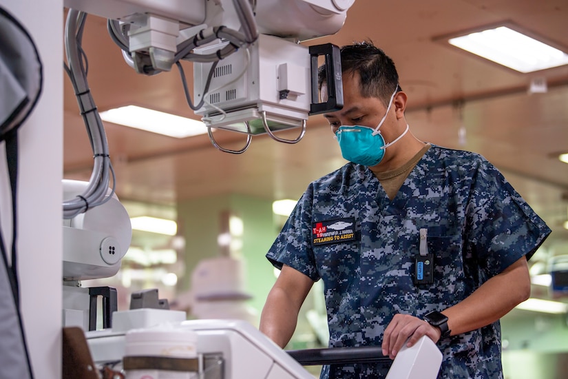
<instances>
[{"instance_id":1,"label":"boxy white equipment head with vents, hanging beside the black handle","mask_svg":"<svg viewBox=\"0 0 568 379\"><path fill-rule=\"evenodd\" d=\"M212 45L199 51L209 54L218 48ZM194 65L194 93L198 98L210 68L211 63ZM211 81L213 90L196 114L211 127L251 134L265 132L263 118L273 131L301 127L310 112L310 78L306 46L260 34L249 51L238 50L220 61Z\"/></svg>"}]
</instances>

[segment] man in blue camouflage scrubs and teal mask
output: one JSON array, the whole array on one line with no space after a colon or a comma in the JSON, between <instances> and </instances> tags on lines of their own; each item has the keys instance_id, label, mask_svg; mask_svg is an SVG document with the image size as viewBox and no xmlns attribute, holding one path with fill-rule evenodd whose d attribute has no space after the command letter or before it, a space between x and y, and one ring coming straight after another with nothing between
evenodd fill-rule
<instances>
[{"instance_id":1,"label":"man in blue camouflage scrubs and teal mask","mask_svg":"<svg viewBox=\"0 0 568 379\"><path fill-rule=\"evenodd\" d=\"M266 255L282 272L260 330L284 347L321 278L330 347L394 359L425 335L440 378L503 378L498 319L529 297L527 259L550 229L482 156L412 135L382 50L344 46L341 70L344 107L324 116L350 163L309 185ZM383 366L330 365L322 378L381 378Z\"/></svg>"}]
</instances>

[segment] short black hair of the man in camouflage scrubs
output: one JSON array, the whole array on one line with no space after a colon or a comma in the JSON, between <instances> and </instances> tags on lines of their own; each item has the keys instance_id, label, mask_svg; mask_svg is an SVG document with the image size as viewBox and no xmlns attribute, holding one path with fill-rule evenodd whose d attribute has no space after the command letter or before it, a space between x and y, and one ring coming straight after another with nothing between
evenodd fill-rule
<instances>
[{"instance_id":1,"label":"short black hair of the man in camouflage scrubs","mask_svg":"<svg viewBox=\"0 0 568 379\"><path fill-rule=\"evenodd\" d=\"M399 74L395 63L383 50L373 45L372 41L362 41L344 45L341 52L341 74L359 73L359 91L361 96L376 97L388 103L395 89L401 91ZM318 88L326 83L325 65L319 67Z\"/></svg>"}]
</instances>

